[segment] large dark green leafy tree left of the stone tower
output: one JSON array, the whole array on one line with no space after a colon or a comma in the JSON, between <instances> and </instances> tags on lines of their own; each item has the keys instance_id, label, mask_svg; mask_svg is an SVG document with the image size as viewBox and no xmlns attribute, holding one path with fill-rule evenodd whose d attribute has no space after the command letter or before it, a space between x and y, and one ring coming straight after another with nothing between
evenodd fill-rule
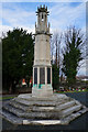
<instances>
[{"instance_id":1,"label":"large dark green leafy tree left of the stone tower","mask_svg":"<svg viewBox=\"0 0 88 132\"><path fill-rule=\"evenodd\" d=\"M2 38L2 85L14 87L20 79L32 76L34 40L23 29L9 31Z\"/></svg>"}]
</instances>

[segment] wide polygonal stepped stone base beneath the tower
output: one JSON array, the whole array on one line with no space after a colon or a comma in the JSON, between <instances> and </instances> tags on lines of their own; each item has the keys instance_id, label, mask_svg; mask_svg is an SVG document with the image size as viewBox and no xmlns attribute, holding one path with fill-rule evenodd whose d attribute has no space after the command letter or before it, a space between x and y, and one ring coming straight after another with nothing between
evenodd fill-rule
<instances>
[{"instance_id":1,"label":"wide polygonal stepped stone base beneath the tower","mask_svg":"<svg viewBox=\"0 0 88 132\"><path fill-rule=\"evenodd\" d=\"M14 124L68 124L87 112L88 108L66 95L35 98L31 94L20 95L3 103L0 113Z\"/></svg>"}]
</instances>

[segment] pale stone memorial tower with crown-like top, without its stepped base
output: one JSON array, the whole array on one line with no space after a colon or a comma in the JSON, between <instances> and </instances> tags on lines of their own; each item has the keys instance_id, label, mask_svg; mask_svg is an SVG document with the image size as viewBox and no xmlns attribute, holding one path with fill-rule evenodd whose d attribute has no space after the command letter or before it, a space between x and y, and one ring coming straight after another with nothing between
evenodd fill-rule
<instances>
[{"instance_id":1,"label":"pale stone memorial tower with crown-like top, without its stepped base","mask_svg":"<svg viewBox=\"0 0 88 132\"><path fill-rule=\"evenodd\" d=\"M37 8L36 15L32 96L51 97L53 96L50 44L52 34L50 23L47 24L47 7Z\"/></svg>"}]
</instances>

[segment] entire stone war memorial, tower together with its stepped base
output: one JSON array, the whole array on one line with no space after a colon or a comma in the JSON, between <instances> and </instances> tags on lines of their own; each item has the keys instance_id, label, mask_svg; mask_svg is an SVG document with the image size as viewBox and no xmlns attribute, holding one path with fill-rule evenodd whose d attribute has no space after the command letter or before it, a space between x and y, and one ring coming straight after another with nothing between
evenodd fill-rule
<instances>
[{"instance_id":1,"label":"entire stone war memorial, tower together with its stepped base","mask_svg":"<svg viewBox=\"0 0 88 132\"><path fill-rule=\"evenodd\" d=\"M48 13L47 7L37 8L32 94L19 95L0 110L13 124L68 124L88 111L79 101L53 94Z\"/></svg>"}]
</instances>

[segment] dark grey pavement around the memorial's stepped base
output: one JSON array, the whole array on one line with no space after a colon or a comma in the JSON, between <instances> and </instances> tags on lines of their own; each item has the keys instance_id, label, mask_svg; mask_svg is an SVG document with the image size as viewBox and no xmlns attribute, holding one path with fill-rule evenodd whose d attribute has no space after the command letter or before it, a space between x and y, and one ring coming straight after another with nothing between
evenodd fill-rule
<instances>
[{"instance_id":1,"label":"dark grey pavement around the memorial's stepped base","mask_svg":"<svg viewBox=\"0 0 88 132\"><path fill-rule=\"evenodd\" d=\"M88 107L88 92L67 92L67 96L79 100ZM7 95L6 97L9 97ZM12 97L16 95L11 95ZM6 101L6 100L4 100ZM1 103L1 101L0 101ZM1 119L0 119L1 121ZM0 122L1 123L1 122ZM14 125L2 119L2 132L36 132L36 131L53 131L53 132L88 132L88 112L72 121L68 125Z\"/></svg>"}]
</instances>

